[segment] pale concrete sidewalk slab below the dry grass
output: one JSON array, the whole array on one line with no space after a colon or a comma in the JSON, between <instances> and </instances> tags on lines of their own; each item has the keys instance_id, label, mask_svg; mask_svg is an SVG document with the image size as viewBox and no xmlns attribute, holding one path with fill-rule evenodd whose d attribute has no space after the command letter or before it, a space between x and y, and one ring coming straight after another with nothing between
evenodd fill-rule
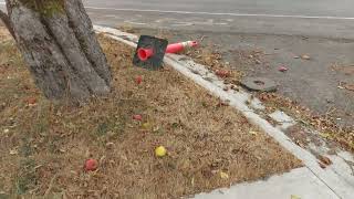
<instances>
[{"instance_id":1,"label":"pale concrete sidewalk slab below the dry grass","mask_svg":"<svg viewBox=\"0 0 354 199\"><path fill-rule=\"evenodd\" d=\"M337 199L323 181L306 167L293 169L267 180L244 182L230 188L200 193L195 199Z\"/></svg>"}]
</instances>

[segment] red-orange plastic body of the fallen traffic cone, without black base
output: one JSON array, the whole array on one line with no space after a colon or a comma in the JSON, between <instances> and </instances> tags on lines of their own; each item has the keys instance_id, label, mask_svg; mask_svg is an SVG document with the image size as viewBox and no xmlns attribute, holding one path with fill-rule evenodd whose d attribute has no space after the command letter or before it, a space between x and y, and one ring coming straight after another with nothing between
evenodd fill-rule
<instances>
[{"instance_id":1,"label":"red-orange plastic body of the fallen traffic cone, without black base","mask_svg":"<svg viewBox=\"0 0 354 199\"><path fill-rule=\"evenodd\" d=\"M167 45L166 53L177 53L177 52L184 51L185 49L194 48L197 45L198 43L196 41L173 43ZM137 56L139 57L140 61L146 61L153 55L154 55L153 49L140 48L137 50Z\"/></svg>"}]
</instances>

